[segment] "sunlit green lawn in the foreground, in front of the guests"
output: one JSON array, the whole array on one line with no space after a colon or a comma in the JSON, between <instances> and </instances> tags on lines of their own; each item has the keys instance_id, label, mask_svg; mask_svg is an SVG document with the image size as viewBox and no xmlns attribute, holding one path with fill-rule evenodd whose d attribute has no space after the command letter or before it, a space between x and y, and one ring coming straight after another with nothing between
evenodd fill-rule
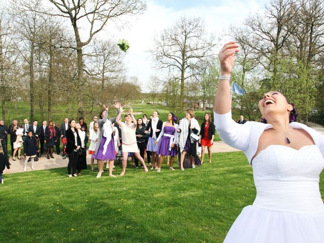
<instances>
[{"instance_id":1,"label":"sunlit green lawn in the foreground, in front of the guests","mask_svg":"<svg viewBox=\"0 0 324 243\"><path fill-rule=\"evenodd\" d=\"M115 174L121 169L116 166ZM200 168L68 178L66 168L5 175L1 242L222 242L256 195L242 152ZM324 195L324 179L320 189Z\"/></svg>"}]
</instances>

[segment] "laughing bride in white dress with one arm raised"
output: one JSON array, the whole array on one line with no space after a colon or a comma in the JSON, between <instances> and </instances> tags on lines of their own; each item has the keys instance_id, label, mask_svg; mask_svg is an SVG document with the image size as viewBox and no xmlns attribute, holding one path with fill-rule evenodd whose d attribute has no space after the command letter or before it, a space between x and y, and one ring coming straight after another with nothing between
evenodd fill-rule
<instances>
[{"instance_id":1,"label":"laughing bride in white dress with one arm raised","mask_svg":"<svg viewBox=\"0 0 324 243\"><path fill-rule=\"evenodd\" d=\"M245 207L224 242L322 243L324 205L319 174L324 167L324 136L291 122L294 106L278 91L264 94L259 108L267 124L236 124L231 118L229 76L238 45L219 54L220 80L214 118L222 140L243 150L253 168L257 196Z\"/></svg>"}]
</instances>

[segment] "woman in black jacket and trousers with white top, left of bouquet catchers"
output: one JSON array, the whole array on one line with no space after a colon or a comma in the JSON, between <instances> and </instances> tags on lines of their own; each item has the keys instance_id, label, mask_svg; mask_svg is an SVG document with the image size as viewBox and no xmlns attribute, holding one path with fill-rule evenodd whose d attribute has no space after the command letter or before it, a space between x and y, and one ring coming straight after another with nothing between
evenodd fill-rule
<instances>
[{"instance_id":1,"label":"woman in black jacket and trousers with white top, left of bouquet catchers","mask_svg":"<svg viewBox=\"0 0 324 243\"><path fill-rule=\"evenodd\" d=\"M76 175L76 165L78 158L78 151L81 147L81 140L78 132L75 129L75 120L69 121L69 129L66 130L66 149L65 152L69 157L69 163L67 164L67 175L68 177L77 176ZM71 173L72 169L72 173Z\"/></svg>"}]
</instances>

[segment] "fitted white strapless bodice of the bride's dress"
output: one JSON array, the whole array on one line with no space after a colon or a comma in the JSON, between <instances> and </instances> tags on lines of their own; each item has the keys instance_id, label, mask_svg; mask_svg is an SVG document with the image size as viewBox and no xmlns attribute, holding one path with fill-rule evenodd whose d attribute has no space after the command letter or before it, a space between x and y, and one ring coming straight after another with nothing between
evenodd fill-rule
<instances>
[{"instance_id":1,"label":"fitted white strapless bodice of the bride's dress","mask_svg":"<svg viewBox=\"0 0 324 243\"><path fill-rule=\"evenodd\" d=\"M316 145L299 150L270 145L252 166L257 189L254 206L295 213L324 210L318 184L324 159Z\"/></svg>"}]
</instances>

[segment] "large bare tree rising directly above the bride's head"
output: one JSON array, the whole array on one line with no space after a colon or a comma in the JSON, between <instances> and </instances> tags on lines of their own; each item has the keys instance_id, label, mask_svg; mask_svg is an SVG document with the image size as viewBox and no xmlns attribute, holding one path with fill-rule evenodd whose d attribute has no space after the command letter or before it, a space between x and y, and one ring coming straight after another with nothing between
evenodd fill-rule
<instances>
[{"instance_id":1,"label":"large bare tree rising directly above the bride's head","mask_svg":"<svg viewBox=\"0 0 324 243\"><path fill-rule=\"evenodd\" d=\"M266 7L265 16L254 15L247 19L248 36L253 42L247 42L259 55L260 64L271 73L271 84L268 87L278 89L278 62L297 23L294 16L298 11L296 1L272 0Z\"/></svg>"}]
</instances>

